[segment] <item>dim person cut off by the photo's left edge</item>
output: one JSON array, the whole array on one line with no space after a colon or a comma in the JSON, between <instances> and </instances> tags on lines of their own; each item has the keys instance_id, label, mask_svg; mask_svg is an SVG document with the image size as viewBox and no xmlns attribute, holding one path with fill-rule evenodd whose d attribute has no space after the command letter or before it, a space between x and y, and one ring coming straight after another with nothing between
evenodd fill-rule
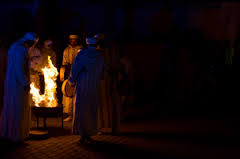
<instances>
[{"instance_id":1,"label":"dim person cut off by the photo's left edge","mask_svg":"<svg viewBox=\"0 0 240 159\"><path fill-rule=\"evenodd\" d=\"M4 77L7 70L7 49L4 48L0 38L0 114L3 106L3 92L4 92Z\"/></svg>"}]
</instances>

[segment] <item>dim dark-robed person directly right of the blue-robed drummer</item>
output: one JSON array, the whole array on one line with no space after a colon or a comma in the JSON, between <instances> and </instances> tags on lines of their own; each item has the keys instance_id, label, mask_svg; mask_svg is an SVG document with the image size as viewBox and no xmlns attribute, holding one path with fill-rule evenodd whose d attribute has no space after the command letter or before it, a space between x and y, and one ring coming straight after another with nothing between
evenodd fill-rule
<instances>
[{"instance_id":1,"label":"dim dark-robed person directly right of the blue-robed drummer","mask_svg":"<svg viewBox=\"0 0 240 159\"><path fill-rule=\"evenodd\" d=\"M99 134L120 131L121 98L118 92L118 74L121 72L119 46L109 44L104 46L104 34L99 34L97 50L104 58L104 75L100 82L98 106Z\"/></svg>"}]
</instances>

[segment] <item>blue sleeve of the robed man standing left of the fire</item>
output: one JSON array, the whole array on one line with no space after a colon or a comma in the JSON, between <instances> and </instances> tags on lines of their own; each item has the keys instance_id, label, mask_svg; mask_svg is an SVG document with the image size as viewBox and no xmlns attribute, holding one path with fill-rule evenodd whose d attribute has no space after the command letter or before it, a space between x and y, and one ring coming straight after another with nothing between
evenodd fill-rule
<instances>
[{"instance_id":1,"label":"blue sleeve of the robed man standing left of the fire","mask_svg":"<svg viewBox=\"0 0 240 159\"><path fill-rule=\"evenodd\" d=\"M19 48L19 49L22 49L22 48ZM25 50L16 51L16 63L15 63L16 77L22 86L26 86L29 84L28 78L26 77L25 71L24 71L24 64L25 64L24 51Z\"/></svg>"}]
</instances>

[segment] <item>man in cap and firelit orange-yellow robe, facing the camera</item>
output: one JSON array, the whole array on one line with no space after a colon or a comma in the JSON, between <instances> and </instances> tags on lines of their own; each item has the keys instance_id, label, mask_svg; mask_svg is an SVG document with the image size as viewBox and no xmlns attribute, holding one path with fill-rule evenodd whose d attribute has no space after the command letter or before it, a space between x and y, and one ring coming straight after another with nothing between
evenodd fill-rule
<instances>
[{"instance_id":1,"label":"man in cap and firelit orange-yellow robe, facing the camera","mask_svg":"<svg viewBox=\"0 0 240 159\"><path fill-rule=\"evenodd\" d=\"M71 66L74 63L74 60L77 57L80 49L82 48L82 46L78 45L77 40L78 40L77 35L69 36L70 44L63 52L63 61L61 69L64 69L64 75L60 73L61 81L64 81L65 78L66 79L68 78ZM64 113L68 114L68 118L66 118L64 121L71 121L73 116L73 98L66 97L63 95L62 104L64 108Z\"/></svg>"}]
</instances>

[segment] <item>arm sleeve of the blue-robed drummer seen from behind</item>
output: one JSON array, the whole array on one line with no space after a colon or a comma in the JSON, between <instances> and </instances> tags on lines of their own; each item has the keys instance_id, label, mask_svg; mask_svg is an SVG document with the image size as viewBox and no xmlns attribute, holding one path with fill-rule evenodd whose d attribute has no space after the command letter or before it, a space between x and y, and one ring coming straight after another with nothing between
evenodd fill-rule
<instances>
[{"instance_id":1,"label":"arm sleeve of the blue-robed drummer seen from behind","mask_svg":"<svg viewBox=\"0 0 240 159\"><path fill-rule=\"evenodd\" d=\"M83 64L82 64L82 55L78 54L73 65L72 65L72 69L71 69L71 73L70 73L70 77L68 79L68 81L70 82L71 85L74 85L75 82L77 81L77 78L79 76L79 73L82 71L83 69Z\"/></svg>"}]
</instances>

